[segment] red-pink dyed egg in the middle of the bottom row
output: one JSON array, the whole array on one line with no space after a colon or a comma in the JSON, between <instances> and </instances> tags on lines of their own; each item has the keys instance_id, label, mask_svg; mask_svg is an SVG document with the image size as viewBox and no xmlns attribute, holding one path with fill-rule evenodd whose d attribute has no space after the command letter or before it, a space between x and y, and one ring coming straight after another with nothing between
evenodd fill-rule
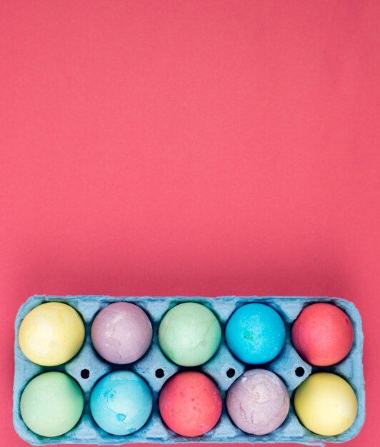
<instances>
[{"instance_id":1,"label":"red-pink dyed egg in the middle of the bottom row","mask_svg":"<svg viewBox=\"0 0 380 447\"><path fill-rule=\"evenodd\" d=\"M185 371L165 383L159 396L159 411L175 433L201 436L219 421L221 396L209 377Z\"/></svg>"}]
</instances>

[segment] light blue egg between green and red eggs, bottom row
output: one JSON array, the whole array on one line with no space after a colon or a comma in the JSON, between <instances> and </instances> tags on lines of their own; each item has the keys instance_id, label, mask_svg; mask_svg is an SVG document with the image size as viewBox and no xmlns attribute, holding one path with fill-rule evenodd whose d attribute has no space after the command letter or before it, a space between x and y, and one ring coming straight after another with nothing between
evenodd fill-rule
<instances>
[{"instance_id":1,"label":"light blue egg between green and red eggs, bottom row","mask_svg":"<svg viewBox=\"0 0 380 447\"><path fill-rule=\"evenodd\" d=\"M128 435L148 421L152 408L149 386L131 371L115 371L96 383L90 408L99 427L113 435Z\"/></svg>"}]
</instances>

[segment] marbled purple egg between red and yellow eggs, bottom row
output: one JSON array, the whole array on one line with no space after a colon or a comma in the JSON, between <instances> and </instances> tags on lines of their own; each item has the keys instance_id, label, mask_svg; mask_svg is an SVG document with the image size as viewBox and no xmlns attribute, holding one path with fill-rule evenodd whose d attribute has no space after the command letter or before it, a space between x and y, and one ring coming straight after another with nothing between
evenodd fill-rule
<instances>
[{"instance_id":1,"label":"marbled purple egg between red and yellow eggs, bottom row","mask_svg":"<svg viewBox=\"0 0 380 447\"><path fill-rule=\"evenodd\" d=\"M229 388L226 405L229 416L241 430L265 435L285 421L289 393L276 374L265 369L251 369Z\"/></svg>"}]
</instances>

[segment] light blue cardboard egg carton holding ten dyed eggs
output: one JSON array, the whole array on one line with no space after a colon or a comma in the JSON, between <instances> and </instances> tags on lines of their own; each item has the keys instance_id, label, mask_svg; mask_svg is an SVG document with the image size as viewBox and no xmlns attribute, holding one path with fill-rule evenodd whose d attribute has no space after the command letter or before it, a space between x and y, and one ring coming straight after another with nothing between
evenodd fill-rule
<instances>
[{"instance_id":1,"label":"light blue cardboard egg carton holding ten dyed eggs","mask_svg":"<svg viewBox=\"0 0 380 447\"><path fill-rule=\"evenodd\" d=\"M49 301L60 301L69 304L78 311L84 319L86 337L84 345L79 353L71 361L60 366L39 366L28 360L21 352L18 333L22 319L32 308ZM154 328L153 341L149 351L139 361L129 365L121 366L108 363L101 358L91 343L91 323L101 308L109 303L117 301L130 301L140 306L151 318ZM276 431L264 436L255 436L244 433L234 426L228 416L225 406L225 395L232 383L244 371L257 366L245 365L238 361L229 351L222 337L221 346L215 356L204 365L196 369L202 371L214 379L224 401L221 418L216 426L204 434L195 438L179 436L171 431L162 421L158 408L159 392L165 381L182 368L164 356L158 343L157 331L161 318L169 308L183 302L196 302L204 304L214 311L221 323L222 332L229 316L236 308L246 303L264 303L274 308L283 318L286 325L286 342L283 350L273 361L262 368L273 371L282 378L291 396L291 407L284 423ZM334 303L342 308L354 327L354 344L349 355L343 361L334 366L325 368L314 367L306 363L296 352L291 344L291 325L301 310L311 303ZM303 443L313 446L324 446L328 443L341 443L354 438L364 424L365 418L365 393L363 375L363 331L361 328L361 316L354 303L341 298L314 297L306 298L299 296L219 296L218 298L185 297L185 296L41 296L36 295L24 303L19 309L15 323L16 340L14 343L14 406L13 419L14 428L19 436L33 445L42 446L46 444L97 444L97 445L120 445L124 443ZM91 390L95 383L111 371L131 370L142 376L153 393L154 407L149 421L139 431L126 436L115 436L103 431L96 425L91 416L89 399ZM26 427L21 418L19 402L21 393L31 378L46 371L62 371L72 376L81 386L84 393L84 413L79 423L62 436L47 438L33 433ZM320 436L302 426L294 413L293 395L294 390L306 379L309 374L316 371L329 371L339 374L351 384L358 400L358 414L354 424L344 433L337 436Z\"/></svg>"}]
</instances>

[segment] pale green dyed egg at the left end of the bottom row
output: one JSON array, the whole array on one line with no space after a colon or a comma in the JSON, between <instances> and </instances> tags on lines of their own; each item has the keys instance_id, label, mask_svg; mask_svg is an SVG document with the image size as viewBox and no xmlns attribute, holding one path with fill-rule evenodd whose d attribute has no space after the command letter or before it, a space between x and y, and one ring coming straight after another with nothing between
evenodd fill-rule
<instances>
[{"instance_id":1,"label":"pale green dyed egg at the left end of the bottom row","mask_svg":"<svg viewBox=\"0 0 380 447\"><path fill-rule=\"evenodd\" d=\"M51 371L31 379L20 401L26 426L40 436L60 436L81 418L84 398L81 388L67 374Z\"/></svg>"}]
</instances>

